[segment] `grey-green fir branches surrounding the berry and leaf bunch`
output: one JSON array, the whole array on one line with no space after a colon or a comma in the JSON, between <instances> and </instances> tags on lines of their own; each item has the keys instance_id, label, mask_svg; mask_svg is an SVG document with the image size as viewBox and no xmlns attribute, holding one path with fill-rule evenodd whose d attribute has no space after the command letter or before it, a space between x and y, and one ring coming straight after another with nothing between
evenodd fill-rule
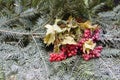
<instances>
[{"instance_id":1,"label":"grey-green fir branches surrounding the berry and leaf bunch","mask_svg":"<svg viewBox=\"0 0 120 80\"><path fill-rule=\"evenodd\" d=\"M98 59L49 62L43 43L56 18L101 26ZM0 80L120 80L120 0L0 0Z\"/></svg>"}]
</instances>

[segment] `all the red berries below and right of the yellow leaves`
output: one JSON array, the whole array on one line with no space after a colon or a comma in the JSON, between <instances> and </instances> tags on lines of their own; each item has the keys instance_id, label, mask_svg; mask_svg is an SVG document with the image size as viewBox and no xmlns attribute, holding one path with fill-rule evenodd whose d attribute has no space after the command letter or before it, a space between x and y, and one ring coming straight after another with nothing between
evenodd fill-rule
<instances>
[{"instance_id":1,"label":"all the red berries below and right of the yellow leaves","mask_svg":"<svg viewBox=\"0 0 120 80\"><path fill-rule=\"evenodd\" d=\"M83 37L78 41L77 45L73 44L66 44L61 47L61 53L51 53L50 54L50 61L62 61L65 60L68 57L72 57L77 55L78 50L82 52L82 58L86 61L92 59L92 58L98 58L100 57L100 52L102 51L102 46L97 46L94 49L89 49L89 52L83 51L83 45L88 41L92 40L93 44L99 40L100 35L100 29L92 30L86 29L84 30Z\"/></svg>"}]
</instances>

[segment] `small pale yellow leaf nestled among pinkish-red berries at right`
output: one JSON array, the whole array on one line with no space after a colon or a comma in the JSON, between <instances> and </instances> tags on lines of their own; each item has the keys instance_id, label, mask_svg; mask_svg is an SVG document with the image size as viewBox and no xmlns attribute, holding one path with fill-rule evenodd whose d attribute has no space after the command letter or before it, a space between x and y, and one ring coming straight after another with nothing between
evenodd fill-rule
<instances>
[{"instance_id":1,"label":"small pale yellow leaf nestled among pinkish-red berries at right","mask_svg":"<svg viewBox=\"0 0 120 80\"><path fill-rule=\"evenodd\" d=\"M90 50L93 50L96 46L96 43L93 43L92 39L89 39L83 44L83 52L89 54Z\"/></svg>"}]
</instances>

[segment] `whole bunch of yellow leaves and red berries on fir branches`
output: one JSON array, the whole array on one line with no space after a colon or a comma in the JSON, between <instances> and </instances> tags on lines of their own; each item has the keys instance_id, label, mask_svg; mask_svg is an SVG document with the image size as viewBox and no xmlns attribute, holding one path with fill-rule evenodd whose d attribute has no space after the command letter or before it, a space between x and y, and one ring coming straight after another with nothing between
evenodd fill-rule
<instances>
[{"instance_id":1,"label":"whole bunch of yellow leaves and red berries on fir branches","mask_svg":"<svg viewBox=\"0 0 120 80\"><path fill-rule=\"evenodd\" d=\"M44 43L54 45L54 51L50 54L50 62L62 61L76 56L78 51L81 57L88 61L99 58L102 46L97 46L100 28L92 25L90 21L78 22L73 17L67 21L56 19L53 25L47 24Z\"/></svg>"}]
</instances>

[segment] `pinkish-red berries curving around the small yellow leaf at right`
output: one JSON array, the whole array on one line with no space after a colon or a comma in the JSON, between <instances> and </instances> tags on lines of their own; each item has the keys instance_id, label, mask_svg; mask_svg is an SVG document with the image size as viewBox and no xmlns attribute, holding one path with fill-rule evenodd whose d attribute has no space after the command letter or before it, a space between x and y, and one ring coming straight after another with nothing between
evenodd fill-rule
<instances>
[{"instance_id":1,"label":"pinkish-red berries curving around the small yellow leaf at right","mask_svg":"<svg viewBox=\"0 0 120 80\"><path fill-rule=\"evenodd\" d=\"M78 42L79 49L82 51L82 57L84 60L89 60L91 58L98 58L100 57L100 52L102 51L102 46L97 46L93 50L90 50L89 53L83 52L83 44L88 40L92 39L93 42L96 42L99 40L100 35L100 29L96 29L93 33L89 29L84 31L83 38Z\"/></svg>"}]
</instances>

